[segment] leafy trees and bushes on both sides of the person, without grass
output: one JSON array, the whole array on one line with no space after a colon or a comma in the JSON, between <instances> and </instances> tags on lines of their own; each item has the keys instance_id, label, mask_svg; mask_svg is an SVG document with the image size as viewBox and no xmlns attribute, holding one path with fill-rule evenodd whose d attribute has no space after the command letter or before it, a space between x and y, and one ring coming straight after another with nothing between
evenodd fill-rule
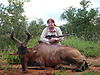
<instances>
[{"instance_id":1,"label":"leafy trees and bushes on both sides of the person, without grass","mask_svg":"<svg viewBox=\"0 0 100 75\"><path fill-rule=\"evenodd\" d=\"M23 41L24 31L28 30L32 36L39 37L46 26L43 19L36 19L27 22L27 17L23 14L24 0L8 0L9 5L0 4L0 49L9 49L14 45L9 39L9 34L14 31L15 37ZM86 41L100 42L100 12L97 8L89 8L91 2L82 0L82 8L70 6L61 14L61 19L66 24L61 25L63 33L73 34Z\"/></svg>"}]
</instances>

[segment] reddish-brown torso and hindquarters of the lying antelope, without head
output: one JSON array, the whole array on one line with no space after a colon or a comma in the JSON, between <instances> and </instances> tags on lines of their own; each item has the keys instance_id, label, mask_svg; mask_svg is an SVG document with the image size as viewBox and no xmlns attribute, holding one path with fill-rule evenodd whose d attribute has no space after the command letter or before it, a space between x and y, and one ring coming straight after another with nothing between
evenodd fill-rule
<instances>
[{"instance_id":1,"label":"reddish-brown torso and hindquarters of the lying antelope, without head","mask_svg":"<svg viewBox=\"0 0 100 75\"><path fill-rule=\"evenodd\" d=\"M34 58L34 60L39 59L40 63L45 64L43 66L56 66L67 63L80 66L83 60L86 60L77 49L68 46L40 43L34 46L33 50L37 51L35 56L40 55L38 58Z\"/></svg>"}]
</instances>

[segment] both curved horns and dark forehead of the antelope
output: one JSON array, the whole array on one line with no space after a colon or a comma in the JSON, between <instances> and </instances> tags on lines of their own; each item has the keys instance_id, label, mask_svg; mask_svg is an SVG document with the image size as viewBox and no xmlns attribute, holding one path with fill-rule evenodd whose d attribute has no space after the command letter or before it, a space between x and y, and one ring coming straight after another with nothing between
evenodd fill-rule
<instances>
[{"instance_id":1,"label":"both curved horns and dark forehead of the antelope","mask_svg":"<svg viewBox=\"0 0 100 75\"><path fill-rule=\"evenodd\" d=\"M17 44L17 46L18 46L18 54L26 54L27 53L27 47L26 47L26 45L27 45L27 43L28 43L28 41L30 40L30 38L31 38L31 35L30 35L30 33L28 32L28 31L25 31L25 33L26 33L26 35L27 35L27 38L25 39L25 41L22 43L22 42L20 42L18 39L16 39L15 37L14 37L14 32L12 32L11 33L11 35L10 35L10 38Z\"/></svg>"}]
</instances>

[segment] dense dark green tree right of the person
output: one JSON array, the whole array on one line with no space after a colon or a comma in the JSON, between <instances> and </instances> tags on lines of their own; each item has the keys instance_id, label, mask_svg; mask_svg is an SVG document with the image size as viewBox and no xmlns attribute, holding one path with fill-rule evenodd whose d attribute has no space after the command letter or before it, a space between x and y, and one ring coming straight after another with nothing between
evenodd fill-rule
<instances>
[{"instance_id":1,"label":"dense dark green tree right of the person","mask_svg":"<svg viewBox=\"0 0 100 75\"><path fill-rule=\"evenodd\" d=\"M66 32L75 33L78 37L82 37L85 40L99 40L100 30L96 28L98 26L96 18L100 18L100 15L98 15L98 9L89 9L90 3L90 1L82 0L80 2L82 8L69 7L61 14L61 18L68 21L64 25Z\"/></svg>"}]
</instances>

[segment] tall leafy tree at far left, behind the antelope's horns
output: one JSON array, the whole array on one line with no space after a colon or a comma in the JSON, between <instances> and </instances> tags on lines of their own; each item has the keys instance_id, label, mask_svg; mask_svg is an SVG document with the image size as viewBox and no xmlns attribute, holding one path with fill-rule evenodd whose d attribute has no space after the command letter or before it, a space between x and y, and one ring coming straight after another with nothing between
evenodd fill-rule
<instances>
[{"instance_id":1,"label":"tall leafy tree at far left, behind the antelope's horns","mask_svg":"<svg viewBox=\"0 0 100 75\"><path fill-rule=\"evenodd\" d=\"M8 35L15 32L18 39L25 39L23 31L26 30L27 21L23 15L24 2L9 0L9 5L0 4L0 48L7 48L11 44Z\"/></svg>"}]
</instances>

